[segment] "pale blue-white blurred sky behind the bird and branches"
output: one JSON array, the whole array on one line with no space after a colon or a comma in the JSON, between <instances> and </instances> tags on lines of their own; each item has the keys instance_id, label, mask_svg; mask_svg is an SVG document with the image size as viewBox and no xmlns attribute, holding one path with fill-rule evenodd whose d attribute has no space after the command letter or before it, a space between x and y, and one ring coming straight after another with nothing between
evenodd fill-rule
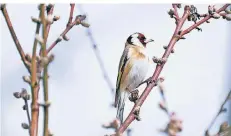
<instances>
[{"instance_id":1,"label":"pale blue-white blurred sky behind the bird and branches","mask_svg":"<svg viewBox=\"0 0 231 136\"><path fill-rule=\"evenodd\" d=\"M208 5L195 6L199 13L207 13ZM155 42L147 46L148 53L162 56L163 46L168 44L175 29L175 20L167 14L170 8L171 4L84 4L80 11L77 5L74 15L83 13L83 10L87 14L92 36L113 87L120 56L130 34L141 32L153 38ZM37 4L8 4L7 9L24 51L31 53L36 27L31 16L38 17ZM48 46L65 29L69 10L69 4L55 5L54 15L60 15L61 19L51 26ZM187 22L184 28L191 24ZM175 53L170 55L161 73L165 78L169 109L183 120L182 136L202 136L231 88L230 22L213 19L201 28L202 32L193 30L185 36L186 40L176 44ZM70 40L62 41L51 52L55 60L49 65L49 128L56 136L113 133L101 125L116 116L116 109L110 106L114 94L104 80L86 29L75 26L67 34ZM25 136L28 132L21 128L21 123L27 122L22 110L24 102L15 99L13 92L21 88L30 90L22 80L22 76L28 73L2 15L1 39L1 134ZM147 77L154 69L155 64L150 66ZM143 88L145 85L141 90ZM40 90L40 98L42 95ZM141 108L142 121L130 125L132 136L163 135L157 129L165 127L168 117L158 107L160 100L158 89L154 88ZM132 106L131 102L126 102L124 118ZM220 124L231 118L230 113L219 117L211 133L216 133ZM40 112L39 130L42 130L42 117Z\"/></svg>"}]
</instances>

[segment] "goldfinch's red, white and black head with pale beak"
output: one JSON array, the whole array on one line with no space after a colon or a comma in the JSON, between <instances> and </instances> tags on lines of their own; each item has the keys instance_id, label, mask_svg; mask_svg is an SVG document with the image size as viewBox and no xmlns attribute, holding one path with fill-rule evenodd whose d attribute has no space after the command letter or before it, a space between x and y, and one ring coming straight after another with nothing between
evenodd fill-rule
<instances>
[{"instance_id":1,"label":"goldfinch's red, white and black head with pale beak","mask_svg":"<svg viewBox=\"0 0 231 136\"><path fill-rule=\"evenodd\" d=\"M146 47L146 44L149 42L153 42L152 39L146 39L146 37L142 33L134 33L130 35L127 39L127 43L135 46Z\"/></svg>"}]
</instances>

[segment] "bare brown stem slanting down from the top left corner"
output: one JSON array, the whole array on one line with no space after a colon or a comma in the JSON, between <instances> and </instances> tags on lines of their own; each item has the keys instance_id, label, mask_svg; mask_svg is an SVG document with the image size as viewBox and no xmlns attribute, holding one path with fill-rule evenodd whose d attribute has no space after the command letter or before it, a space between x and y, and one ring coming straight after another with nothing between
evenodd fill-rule
<instances>
[{"instance_id":1,"label":"bare brown stem slanting down from the top left corner","mask_svg":"<svg viewBox=\"0 0 231 136\"><path fill-rule=\"evenodd\" d=\"M6 20L7 26L9 28L10 34L11 34L13 40L14 40L16 48L17 48L17 50L18 50L18 52L20 54L22 62L25 65L25 67L27 68L28 72L30 73L30 67L27 65L27 60L25 58L25 53L24 53L24 51L22 49L22 46L21 46L21 44L20 44L20 42L19 42L19 40L18 40L18 38L16 36L16 33L14 31L13 25L12 25L12 23L10 21L10 17L8 15L8 12L7 12L7 9L6 9L6 4L1 4L1 11L2 11L2 14L3 14L5 20Z\"/></svg>"}]
</instances>

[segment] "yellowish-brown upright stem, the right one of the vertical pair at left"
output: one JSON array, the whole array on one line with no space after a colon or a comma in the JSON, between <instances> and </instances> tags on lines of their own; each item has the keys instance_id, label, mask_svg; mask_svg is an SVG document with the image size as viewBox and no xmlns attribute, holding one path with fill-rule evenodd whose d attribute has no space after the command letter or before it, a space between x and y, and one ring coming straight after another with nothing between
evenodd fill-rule
<instances>
[{"instance_id":1,"label":"yellowish-brown upright stem, the right one of the vertical pair at left","mask_svg":"<svg viewBox=\"0 0 231 136\"><path fill-rule=\"evenodd\" d=\"M48 36L47 32L47 22L45 19L45 5L41 4L41 21L43 24L43 39L44 42L42 43L42 57L46 58L47 57L47 52L46 52L46 39ZM48 136L49 135L49 130L48 130L48 115L49 115L49 105L48 105L48 64L44 65L44 70L43 70L43 90L44 90L44 101L45 105L43 106L44 108L44 129L43 129L43 135Z\"/></svg>"}]
</instances>

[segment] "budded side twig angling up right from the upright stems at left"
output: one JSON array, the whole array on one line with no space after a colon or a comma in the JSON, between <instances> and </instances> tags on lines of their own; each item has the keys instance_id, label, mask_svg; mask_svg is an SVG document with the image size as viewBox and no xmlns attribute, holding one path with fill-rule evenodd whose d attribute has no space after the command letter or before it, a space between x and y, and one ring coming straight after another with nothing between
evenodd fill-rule
<instances>
[{"instance_id":1,"label":"budded side twig angling up right from the upright stems at left","mask_svg":"<svg viewBox=\"0 0 231 136\"><path fill-rule=\"evenodd\" d=\"M75 4L70 4L71 5L71 10L70 10L70 16L69 16L69 20L67 23L67 27L66 29L60 34L60 37L63 37L67 34L67 32L69 32L69 30L77 23L77 19L72 22L72 18L73 18L73 12L74 12L74 8L75 8ZM58 37L52 44L51 46L47 49L47 53L49 53L59 42L61 42L60 37Z\"/></svg>"}]
</instances>

